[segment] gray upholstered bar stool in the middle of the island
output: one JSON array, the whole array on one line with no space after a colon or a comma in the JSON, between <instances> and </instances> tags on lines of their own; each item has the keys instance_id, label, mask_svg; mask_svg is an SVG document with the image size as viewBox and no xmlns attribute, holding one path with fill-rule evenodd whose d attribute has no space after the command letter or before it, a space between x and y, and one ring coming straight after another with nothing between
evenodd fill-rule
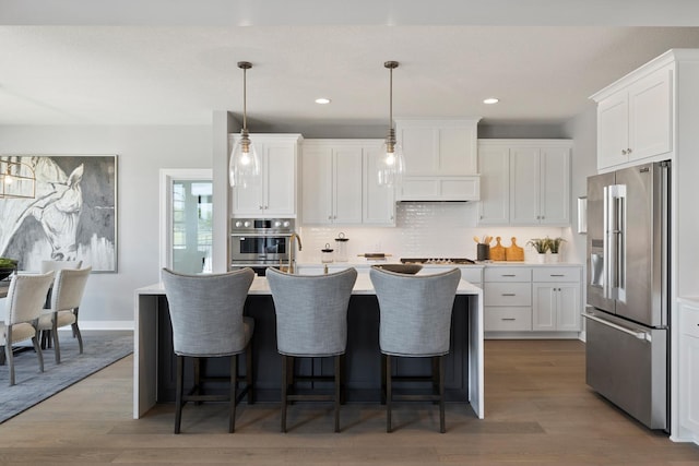
<instances>
[{"instance_id":1,"label":"gray upholstered bar stool in the middle of the island","mask_svg":"<svg viewBox=\"0 0 699 466\"><path fill-rule=\"evenodd\" d=\"M304 276L268 268L266 279L276 312L276 346L282 355L282 432L286 432L286 407L297 401L334 402L335 432L340 432L342 356L347 346L347 307L357 271ZM295 378L295 358L322 357L334 358L332 378ZM296 393L297 380L334 380L334 394Z\"/></svg>"}]
</instances>

